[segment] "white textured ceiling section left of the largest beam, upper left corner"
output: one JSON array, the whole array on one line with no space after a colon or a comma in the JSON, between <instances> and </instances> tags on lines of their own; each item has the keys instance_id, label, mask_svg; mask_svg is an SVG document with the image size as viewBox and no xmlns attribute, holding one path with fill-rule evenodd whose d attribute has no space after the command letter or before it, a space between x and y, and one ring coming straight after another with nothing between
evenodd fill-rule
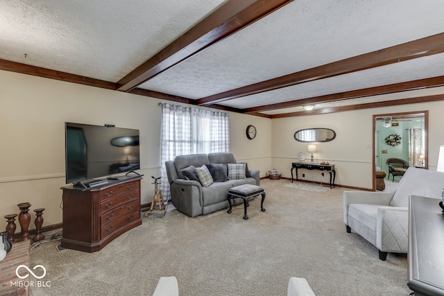
<instances>
[{"instance_id":1,"label":"white textured ceiling section left of the largest beam, upper left corner","mask_svg":"<svg viewBox=\"0 0 444 296\"><path fill-rule=\"evenodd\" d=\"M1 0L0 58L117 82L225 1Z\"/></svg>"}]
</instances>

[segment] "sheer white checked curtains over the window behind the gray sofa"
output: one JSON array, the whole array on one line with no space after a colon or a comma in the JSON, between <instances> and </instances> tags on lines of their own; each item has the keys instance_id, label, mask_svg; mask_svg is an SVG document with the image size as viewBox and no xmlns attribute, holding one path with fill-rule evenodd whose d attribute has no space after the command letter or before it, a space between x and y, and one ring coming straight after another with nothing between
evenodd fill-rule
<instances>
[{"instance_id":1,"label":"sheer white checked curtains over the window behind the gray sofa","mask_svg":"<svg viewBox=\"0 0 444 296\"><path fill-rule=\"evenodd\" d=\"M165 162L178 155L230 151L228 113L160 103L162 195L170 198Z\"/></svg>"}]
</instances>

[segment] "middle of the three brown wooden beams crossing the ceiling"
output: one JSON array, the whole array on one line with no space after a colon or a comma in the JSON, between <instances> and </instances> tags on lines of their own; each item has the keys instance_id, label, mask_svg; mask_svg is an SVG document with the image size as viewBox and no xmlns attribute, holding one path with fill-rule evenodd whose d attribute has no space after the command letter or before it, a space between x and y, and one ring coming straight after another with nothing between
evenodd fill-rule
<instances>
[{"instance_id":1,"label":"middle of the three brown wooden beams crossing the ceiling","mask_svg":"<svg viewBox=\"0 0 444 296\"><path fill-rule=\"evenodd\" d=\"M444 33L440 33L404 44L391 46L386 49L364 53L363 55L357 55L345 60L340 60L330 64L324 64L319 67L280 76L278 78L257 82L253 85L246 85L245 87L232 89L228 92L222 92L220 94L200 98L198 100L198 105L221 103L233 98L268 92L273 89L363 71L366 69L395 64L397 62L404 62L443 52Z\"/></svg>"}]
</instances>

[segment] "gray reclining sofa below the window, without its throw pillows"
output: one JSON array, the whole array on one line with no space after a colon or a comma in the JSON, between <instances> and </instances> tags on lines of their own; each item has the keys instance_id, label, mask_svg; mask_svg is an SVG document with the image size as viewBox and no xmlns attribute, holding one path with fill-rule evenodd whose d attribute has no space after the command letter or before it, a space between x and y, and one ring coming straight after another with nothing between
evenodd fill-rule
<instances>
[{"instance_id":1,"label":"gray reclining sofa below the window, without its throw pillows","mask_svg":"<svg viewBox=\"0 0 444 296\"><path fill-rule=\"evenodd\" d=\"M228 172L228 164L236 163L232 153L209 153L179 155L174 160L165 162L171 189L171 203L184 214L191 217L210 214L229 207L227 194L230 188L242 184L259 186L259 171L248 171L245 179L214 182L202 186L195 180L187 180L182 170L189 166L201 167L204 164L223 164ZM237 200L236 203L241 202Z\"/></svg>"}]
</instances>

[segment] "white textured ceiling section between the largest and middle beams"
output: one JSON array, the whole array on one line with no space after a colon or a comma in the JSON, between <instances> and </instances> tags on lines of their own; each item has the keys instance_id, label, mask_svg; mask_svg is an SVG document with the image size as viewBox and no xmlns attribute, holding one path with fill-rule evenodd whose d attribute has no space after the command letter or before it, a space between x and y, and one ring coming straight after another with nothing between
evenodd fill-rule
<instances>
[{"instance_id":1,"label":"white textured ceiling section between the largest and middle beams","mask_svg":"<svg viewBox=\"0 0 444 296\"><path fill-rule=\"evenodd\" d=\"M442 33L442 11L436 0L293 1L140 87L210 96Z\"/></svg>"}]
</instances>

